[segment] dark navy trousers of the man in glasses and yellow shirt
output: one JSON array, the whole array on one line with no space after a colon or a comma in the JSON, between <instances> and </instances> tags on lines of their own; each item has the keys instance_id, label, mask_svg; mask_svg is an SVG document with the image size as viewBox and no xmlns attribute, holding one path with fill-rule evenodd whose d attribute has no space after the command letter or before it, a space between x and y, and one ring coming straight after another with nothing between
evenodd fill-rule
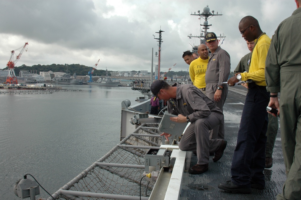
<instances>
[{"instance_id":1,"label":"dark navy trousers of the man in glasses and yellow shirt","mask_svg":"<svg viewBox=\"0 0 301 200\"><path fill-rule=\"evenodd\" d=\"M256 85L248 90L231 165L231 180L236 185L251 187L252 182L265 186L268 102L269 92L265 86Z\"/></svg>"}]
</instances>

